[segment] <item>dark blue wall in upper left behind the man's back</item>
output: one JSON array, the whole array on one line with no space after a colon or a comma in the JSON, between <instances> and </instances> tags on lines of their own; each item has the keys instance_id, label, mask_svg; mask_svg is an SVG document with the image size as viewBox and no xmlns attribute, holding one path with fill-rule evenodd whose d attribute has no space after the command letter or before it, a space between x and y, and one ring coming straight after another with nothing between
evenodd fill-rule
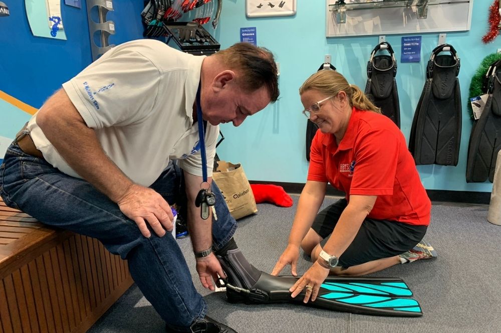
<instances>
[{"instance_id":1,"label":"dark blue wall in upper left behind the man's back","mask_svg":"<svg viewBox=\"0 0 501 333\"><path fill-rule=\"evenodd\" d=\"M11 15L0 17L0 90L39 108L63 82L92 62L86 2L78 9L61 1L66 41L34 37L24 0L4 2ZM110 44L142 38L142 4L142 0L114 1L115 11L107 18L115 21L117 33L110 36Z\"/></svg>"}]
</instances>

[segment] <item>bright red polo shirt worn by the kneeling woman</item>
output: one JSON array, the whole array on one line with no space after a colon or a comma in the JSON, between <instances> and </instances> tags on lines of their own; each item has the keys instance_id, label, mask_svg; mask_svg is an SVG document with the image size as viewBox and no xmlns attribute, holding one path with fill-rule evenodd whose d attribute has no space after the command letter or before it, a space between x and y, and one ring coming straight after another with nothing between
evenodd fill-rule
<instances>
[{"instance_id":1,"label":"bright red polo shirt worn by the kneeling woman","mask_svg":"<svg viewBox=\"0 0 501 333\"><path fill-rule=\"evenodd\" d=\"M339 146L317 131L308 180L329 182L350 195L377 196L369 218L413 225L430 223L431 202L400 129L388 117L353 108Z\"/></svg>"}]
</instances>

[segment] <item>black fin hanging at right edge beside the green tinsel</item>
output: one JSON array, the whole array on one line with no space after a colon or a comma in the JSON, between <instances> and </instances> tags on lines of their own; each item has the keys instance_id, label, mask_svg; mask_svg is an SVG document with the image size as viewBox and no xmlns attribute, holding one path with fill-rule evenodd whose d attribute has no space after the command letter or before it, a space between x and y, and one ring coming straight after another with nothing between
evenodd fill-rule
<instances>
[{"instance_id":1,"label":"black fin hanging at right edge beside the green tinsel","mask_svg":"<svg viewBox=\"0 0 501 333\"><path fill-rule=\"evenodd\" d=\"M480 119L471 129L466 163L466 182L492 183L497 153L501 149L501 60L487 71L488 97Z\"/></svg>"}]
</instances>

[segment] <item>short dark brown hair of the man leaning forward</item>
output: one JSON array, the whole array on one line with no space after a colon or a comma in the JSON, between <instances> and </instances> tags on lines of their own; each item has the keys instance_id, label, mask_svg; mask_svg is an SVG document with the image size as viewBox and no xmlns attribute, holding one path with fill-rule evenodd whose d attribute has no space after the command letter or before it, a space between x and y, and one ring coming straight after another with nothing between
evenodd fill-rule
<instances>
[{"instance_id":1,"label":"short dark brown hair of the man leaning forward","mask_svg":"<svg viewBox=\"0 0 501 333\"><path fill-rule=\"evenodd\" d=\"M238 80L243 89L256 91L266 86L271 102L278 99L280 91L277 64L273 53L268 49L249 43L236 43L214 56L221 57L225 65L240 71L241 78Z\"/></svg>"}]
</instances>

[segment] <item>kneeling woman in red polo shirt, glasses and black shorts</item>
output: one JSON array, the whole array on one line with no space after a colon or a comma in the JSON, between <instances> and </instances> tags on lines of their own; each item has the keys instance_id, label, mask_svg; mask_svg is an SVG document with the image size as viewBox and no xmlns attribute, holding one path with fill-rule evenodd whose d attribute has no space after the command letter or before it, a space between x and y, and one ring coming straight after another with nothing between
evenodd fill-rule
<instances>
[{"instance_id":1,"label":"kneeling woman in red polo shirt, glasses and black shorts","mask_svg":"<svg viewBox=\"0 0 501 333\"><path fill-rule=\"evenodd\" d=\"M329 273L365 275L434 256L421 242L431 203L400 129L336 71L315 73L299 92L303 113L320 130L289 244L272 274L291 264L297 275L301 247L314 263L291 292L306 288L308 301ZM327 183L346 198L318 213Z\"/></svg>"}]
</instances>

